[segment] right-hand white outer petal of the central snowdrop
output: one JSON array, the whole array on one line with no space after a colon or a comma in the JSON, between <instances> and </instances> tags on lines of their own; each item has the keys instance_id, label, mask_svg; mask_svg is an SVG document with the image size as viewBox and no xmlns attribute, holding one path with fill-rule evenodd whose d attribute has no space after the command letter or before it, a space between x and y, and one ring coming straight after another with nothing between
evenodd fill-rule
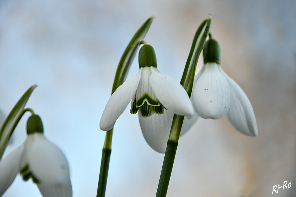
<instances>
[{"instance_id":1,"label":"right-hand white outer petal of the central snowdrop","mask_svg":"<svg viewBox=\"0 0 296 197\"><path fill-rule=\"evenodd\" d=\"M183 86L172 77L162 75L155 67L151 67L151 72L150 84L161 104L175 114L190 118L194 109Z\"/></svg>"}]
</instances>

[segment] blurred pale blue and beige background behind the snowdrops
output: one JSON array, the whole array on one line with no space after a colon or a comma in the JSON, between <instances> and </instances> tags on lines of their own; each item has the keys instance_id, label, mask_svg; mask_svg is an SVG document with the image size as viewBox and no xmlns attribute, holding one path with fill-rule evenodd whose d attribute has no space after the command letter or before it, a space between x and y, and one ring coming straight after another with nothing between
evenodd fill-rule
<instances>
[{"instance_id":1,"label":"blurred pale blue and beige background behind the snowdrops","mask_svg":"<svg viewBox=\"0 0 296 197\"><path fill-rule=\"evenodd\" d=\"M160 72L180 81L199 24L212 14L221 66L248 95L255 138L226 117L199 118L180 138L168 197L296 196L296 1L0 1L0 105L8 114L33 84L27 103L45 136L65 153L73 196L95 196L105 132L99 120L119 59L155 15L145 41ZM138 72L137 56L128 78ZM200 57L197 70L203 64ZM26 138L28 114L5 155ZM106 196L155 196L164 154L145 142L129 107L117 120ZM18 175L3 195L40 196Z\"/></svg>"}]
</instances>

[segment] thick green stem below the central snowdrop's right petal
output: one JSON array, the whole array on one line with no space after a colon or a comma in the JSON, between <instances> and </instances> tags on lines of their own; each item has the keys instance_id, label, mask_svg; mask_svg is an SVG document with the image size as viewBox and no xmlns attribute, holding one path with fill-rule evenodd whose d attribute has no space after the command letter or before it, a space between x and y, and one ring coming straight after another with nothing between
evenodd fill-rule
<instances>
[{"instance_id":1,"label":"thick green stem below the central snowdrop's right petal","mask_svg":"<svg viewBox=\"0 0 296 197\"><path fill-rule=\"evenodd\" d=\"M171 178L172 174L183 120L184 116L178 116L174 114L171 132L169 134L169 140L167 141L167 149L164 155L164 162L162 164L156 197L165 197L167 195L167 188L169 187L169 179Z\"/></svg>"}]
</instances>

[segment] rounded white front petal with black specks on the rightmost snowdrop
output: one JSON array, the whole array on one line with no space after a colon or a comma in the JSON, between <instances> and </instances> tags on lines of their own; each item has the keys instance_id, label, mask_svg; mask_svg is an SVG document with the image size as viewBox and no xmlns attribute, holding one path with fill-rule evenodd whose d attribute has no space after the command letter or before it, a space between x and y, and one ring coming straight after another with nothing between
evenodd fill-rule
<instances>
[{"instance_id":1,"label":"rounded white front petal with black specks on the rightmost snowdrop","mask_svg":"<svg viewBox=\"0 0 296 197\"><path fill-rule=\"evenodd\" d=\"M193 106L202 118L219 119L230 108L230 88L216 63L207 63L197 74L192 89Z\"/></svg>"}]
</instances>

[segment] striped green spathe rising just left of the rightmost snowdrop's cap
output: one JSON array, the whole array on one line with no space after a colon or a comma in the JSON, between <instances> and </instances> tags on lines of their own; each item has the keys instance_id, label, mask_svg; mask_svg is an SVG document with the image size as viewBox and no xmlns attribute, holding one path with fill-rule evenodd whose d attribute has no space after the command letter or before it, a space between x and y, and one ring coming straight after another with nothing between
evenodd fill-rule
<instances>
[{"instance_id":1,"label":"striped green spathe rising just left of the rightmost snowdrop's cap","mask_svg":"<svg viewBox=\"0 0 296 197\"><path fill-rule=\"evenodd\" d=\"M212 15L209 15L209 17L206 18L201 23L201 25L199 25L199 28L196 30L196 33L193 38L191 50L188 55L188 59L184 68L184 72L183 72L180 84L185 88L189 97L191 96L191 92L192 92L196 64L197 64L199 55L204 47L204 43L206 42L207 36L209 35L211 20L212 20Z\"/></svg>"}]
</instances>

